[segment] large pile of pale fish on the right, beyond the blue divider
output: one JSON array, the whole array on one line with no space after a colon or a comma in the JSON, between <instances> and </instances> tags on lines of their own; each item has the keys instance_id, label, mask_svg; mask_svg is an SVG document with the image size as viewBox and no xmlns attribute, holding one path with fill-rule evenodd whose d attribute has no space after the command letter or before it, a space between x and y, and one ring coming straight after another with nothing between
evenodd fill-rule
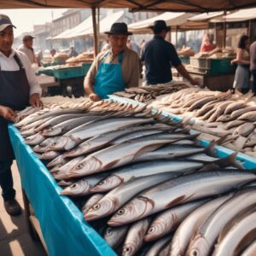
<instances>
[{"instance_id":1,"label":"large pile of pale fish on the right, beyond the blue divider","mask_svg":"<svg viewBox=\"0 0 256 256\"><path fill-rule=\"evenodd\" d=\"M177 114L189 120L196 131L228 136L226 147L256 157L256 103L252 96L189 88L162 96L148 108Z\"/></svg>"}]
</instances>

